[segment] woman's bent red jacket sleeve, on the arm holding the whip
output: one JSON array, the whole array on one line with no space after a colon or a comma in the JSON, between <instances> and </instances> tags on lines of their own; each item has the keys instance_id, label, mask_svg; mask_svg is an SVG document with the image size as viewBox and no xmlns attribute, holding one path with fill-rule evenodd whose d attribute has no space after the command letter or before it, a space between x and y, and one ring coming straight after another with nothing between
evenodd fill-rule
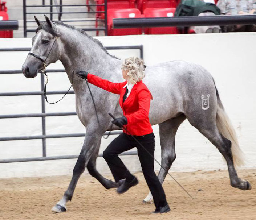
<instances>
[{"instance_id":1,"label":"woman's bent red jacket sleeve, on the arm holding the whip","mask_svg":"<svg viewBox=\"0 0 256 220\"><path fill-rule=\"evenodd\" d=\"M149 108L150 108L150 92L146 89L139 91L138 93L138 102L139 102L139 110L126 115L127 124L136 123L137 121L144 120L149 116Z\"/></svg>"}]
</instances>

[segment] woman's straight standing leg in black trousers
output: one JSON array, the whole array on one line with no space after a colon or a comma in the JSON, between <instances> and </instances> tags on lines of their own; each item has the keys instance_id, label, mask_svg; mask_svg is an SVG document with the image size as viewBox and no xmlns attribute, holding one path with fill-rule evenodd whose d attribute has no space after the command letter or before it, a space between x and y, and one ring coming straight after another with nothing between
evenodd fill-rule
<instances>
[{"instance_id":1,"label":"woman's straight standing leg in black trousers","mask_svg":"<svg viewBox=\"0 0 256 220\"><path fill-rule=\"evenodd\" d=\"M156 211L160 207L164 207L167 205L166 196L163 190L157 175L154 172L154 151L155 151L155 140L154 137L150 140L147 140L147 143L143 143L143 140L140 141L141 144L149 151L149 153L153 156L151 157L149 153L143 149L139 144L137 145L138 148L138 156L141 162L141 167L143 171L143 175L149 186L150 192L153 196Z\"/></svg>"}]
</instances>

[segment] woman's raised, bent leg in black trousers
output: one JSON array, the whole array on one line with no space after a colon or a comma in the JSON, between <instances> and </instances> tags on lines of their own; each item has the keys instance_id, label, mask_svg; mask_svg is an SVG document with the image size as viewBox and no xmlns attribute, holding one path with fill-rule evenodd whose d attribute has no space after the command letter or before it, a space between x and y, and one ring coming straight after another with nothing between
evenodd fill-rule
<instances>
[{"instance_id":1,"label":"woman's raised, bent leg in black trousers","mask_svg":"<svg viewBox=\"0 0 256 220\"><path fill-rule=\"evenodd\" d=\"M127 135L122 133L115 138L103 152L103 158L109 165L115 182L118 182L124 178L129 180L134 178L134 176L129 172L129 170L127 170L126 166L118 157L118 154L121 154L122 152L130 150L134 147L135 145L129 140L129 138L127 138Z\"/></svg>"}]
</instances>

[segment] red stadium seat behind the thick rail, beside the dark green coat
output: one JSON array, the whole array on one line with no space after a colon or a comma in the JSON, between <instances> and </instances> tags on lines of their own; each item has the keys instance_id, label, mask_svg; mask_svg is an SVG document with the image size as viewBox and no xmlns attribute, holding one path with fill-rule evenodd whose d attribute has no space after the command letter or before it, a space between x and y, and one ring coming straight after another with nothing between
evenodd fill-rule
<instances>
[{"instance_id":1,"label":"red stadium seat behind the thick rail, beside the dark green coat","mask_svg":"<svg viewBox=\"0 0 256 220\"><path fill-rule=\"evenodd\" d=\"M144 17L173 17L176 8L146 8ZM176 27L147 28L145 34L179 34Z\"/></svg>"}]
</instances>

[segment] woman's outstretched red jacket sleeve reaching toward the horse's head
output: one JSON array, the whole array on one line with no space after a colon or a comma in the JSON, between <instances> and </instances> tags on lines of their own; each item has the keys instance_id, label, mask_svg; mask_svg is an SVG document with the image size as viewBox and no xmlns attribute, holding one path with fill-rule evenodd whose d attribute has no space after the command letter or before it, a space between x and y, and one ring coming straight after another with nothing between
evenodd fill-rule
<instances>
[{"instance_id":1,"label":"woman's outstretched red jacket sleeve reaching toward the horse's head","mask_svg":"<svg viewBox=\"0 0 256 220\"><path fill-rule=\"evenodd\" d=\"M109 92L120 94L121 88L125 84L125 82L122 83L112 83L109 80L102 79L99 76L93 75L88 73L87 74L87 80L89 83L92 83L95 86L98 86L99 88L102 88L103 90L107 90Z\"/></svg>"}]
</instances>

